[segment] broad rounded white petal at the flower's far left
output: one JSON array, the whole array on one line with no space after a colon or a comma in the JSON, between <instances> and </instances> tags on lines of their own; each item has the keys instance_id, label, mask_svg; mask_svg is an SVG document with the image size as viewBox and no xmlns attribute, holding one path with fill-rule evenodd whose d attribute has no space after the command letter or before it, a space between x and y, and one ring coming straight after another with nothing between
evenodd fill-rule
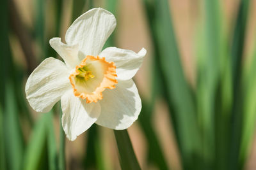
<instances>
[{"instance_id":1,"label":"broad rounded white petal at the flower's far left","mask_svg":"<svg viewBox=\"0 0 256 170\"><path fill-rule=\"evenodd\" d=\"M50 111L60 97L71 88L67 66L52 57L45 59L26 83L26 96L30 106L38 112Z\"/></svg>"}]
</instances>

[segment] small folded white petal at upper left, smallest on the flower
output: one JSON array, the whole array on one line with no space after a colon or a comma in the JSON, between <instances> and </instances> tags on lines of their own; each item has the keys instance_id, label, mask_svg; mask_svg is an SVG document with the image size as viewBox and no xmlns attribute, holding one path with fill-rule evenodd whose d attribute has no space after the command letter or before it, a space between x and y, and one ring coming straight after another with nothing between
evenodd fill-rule
<instances>
[{"instance_id":1,"label":"small folded white petal at upper left, smallest on the flower","mask_svg":"<svg viewBox=\"0 0 256 170\"><path fill-rule=\"evenodd\" d=\"M50 45L52 48L62 57L68 67L74 68L79 65L78 54L78 44L76 45L66 45L61 42L60 38L50 39Z\"/></svg>"}]
</instances>

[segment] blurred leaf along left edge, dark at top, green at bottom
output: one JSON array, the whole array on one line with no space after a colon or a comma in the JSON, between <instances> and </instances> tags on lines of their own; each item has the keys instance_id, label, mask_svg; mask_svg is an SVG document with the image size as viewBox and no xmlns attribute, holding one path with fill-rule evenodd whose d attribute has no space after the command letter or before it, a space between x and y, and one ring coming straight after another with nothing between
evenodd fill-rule
<instances>
[{"instance_id":1,"label":"blurred leaf along left edge, dark at top, green at bottom","mask_svg":"<svg viewBox=\"0 0 256 170\"><path fill-rule=\"evenodd\" d=\"M9 1L1 1L1 107L3 107L3 141L4 158L6 160L6 169L21 169L23 156L23 138L19 122L19 111L17 98L15 95L15 69L10 52L10 43L8 39L8 8ZM1 128L2 129L2 128Z\"/></svg>"}]
</instances>

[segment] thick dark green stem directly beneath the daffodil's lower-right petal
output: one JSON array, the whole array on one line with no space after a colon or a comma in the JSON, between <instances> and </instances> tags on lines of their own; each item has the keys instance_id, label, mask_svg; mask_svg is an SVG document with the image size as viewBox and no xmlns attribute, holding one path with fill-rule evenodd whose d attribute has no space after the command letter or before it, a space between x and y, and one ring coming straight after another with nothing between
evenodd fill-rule
<instances>
[{"instance_id":1,"label":"thick dark green stem directly beneath the daffodil's lower-right petal","mask_svg":"<svg viewBox=\"0 0 256 170\"><path fill-rule=\"evenodd\" d=\"M127 130L114 131L122 169L140 169Z\"/></svg>"}]
</instances>

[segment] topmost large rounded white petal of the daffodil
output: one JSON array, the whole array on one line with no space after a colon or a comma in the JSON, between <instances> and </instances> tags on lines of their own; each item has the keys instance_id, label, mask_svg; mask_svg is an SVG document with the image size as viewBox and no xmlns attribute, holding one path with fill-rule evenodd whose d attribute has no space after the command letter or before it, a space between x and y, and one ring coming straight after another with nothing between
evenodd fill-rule
<instances>
[{"instance_id":1,"label":"topmost large rounded white petal of the daffodil","mask_svg":"<svg viewBox=\"0 0 256 170\"><path fill-rule=\"evenodd\" d=\"M99 55L102 47L116 27L115 16L101 8L93 8L78 17L68 28L67 44L79 44L85 55Z\"/></svg>"}]
</instances>

